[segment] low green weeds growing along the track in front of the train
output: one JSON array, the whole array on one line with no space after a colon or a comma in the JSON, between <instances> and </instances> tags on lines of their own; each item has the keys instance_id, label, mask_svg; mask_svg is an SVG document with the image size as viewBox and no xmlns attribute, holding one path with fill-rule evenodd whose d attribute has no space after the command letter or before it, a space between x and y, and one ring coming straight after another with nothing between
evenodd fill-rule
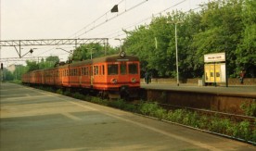
<instances>
[{"instance_id":1,"label":"low green weeds growing along the track in front of the train","mask_svg":"<svg viewBox=\"0 0 256 151\"><path fill-rule=\"evenodd\" d=\"M241 122L233 122L229 119L223 119L216 115L201 116L197 112L188 111L186 109L175 109L167 112L165 109L155 103L141 103L138 107L140 113L156 117L158 119L170 120L173 122L185 124L199 129L218 132L242 138L247 141L255 142L256 130L255 127L250 127L250 122L245 120Z\"/></svg>"}]
</instances>

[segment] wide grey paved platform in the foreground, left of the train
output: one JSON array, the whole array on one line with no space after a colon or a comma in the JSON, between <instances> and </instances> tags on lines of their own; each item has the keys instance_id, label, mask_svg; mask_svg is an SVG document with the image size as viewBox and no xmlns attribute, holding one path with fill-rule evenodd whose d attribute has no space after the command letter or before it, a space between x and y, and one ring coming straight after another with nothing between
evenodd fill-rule
<instances>
[{"instance_id":1,"label":"wide grey paved platform in the foreground, left of the train","mask_svg":"<svg viewBox=\"0 0 256 151\"><path fill-rule=\"evenodd\" d=\"M67 96L1 83L0 150L256 150Z\"/></svg>"}]
</instances>

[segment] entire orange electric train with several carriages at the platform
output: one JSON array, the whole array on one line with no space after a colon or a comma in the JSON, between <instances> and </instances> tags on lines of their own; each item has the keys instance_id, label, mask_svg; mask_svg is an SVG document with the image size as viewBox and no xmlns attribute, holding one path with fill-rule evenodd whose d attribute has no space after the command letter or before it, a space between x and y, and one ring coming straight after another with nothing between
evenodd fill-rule
<instances>
[{"instance_id":1,"label":"entire orange electric train with several carriages at the platform","mask_svg":"<svg viewBox=\"0 0 256 151\"><path fill-rule=\"evenodd\" d=\"M138 57L124 53L97 57L52 69L36 69L22 75L22 82L94 91L103 97L135 97L140 89Z\"/></svg>"}]
</instances>

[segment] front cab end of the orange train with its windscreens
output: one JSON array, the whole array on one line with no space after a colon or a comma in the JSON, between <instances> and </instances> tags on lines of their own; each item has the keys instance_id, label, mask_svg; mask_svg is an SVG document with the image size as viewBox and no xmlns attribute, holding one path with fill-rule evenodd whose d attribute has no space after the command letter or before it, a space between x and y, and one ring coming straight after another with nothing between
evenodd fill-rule
<instances>
[{"instance_id":1,"label":"front cab end of the orange train with its windscreens","mask_svg":"<svg viewBox=\"0 0 256 151\"><path fill-rule=\"evenodd\" d=\"M137 57L107 57L93 64L95 89L120 95L122 98L136 97L140 88L140 69Z\"/></svg>"}]
</instances>

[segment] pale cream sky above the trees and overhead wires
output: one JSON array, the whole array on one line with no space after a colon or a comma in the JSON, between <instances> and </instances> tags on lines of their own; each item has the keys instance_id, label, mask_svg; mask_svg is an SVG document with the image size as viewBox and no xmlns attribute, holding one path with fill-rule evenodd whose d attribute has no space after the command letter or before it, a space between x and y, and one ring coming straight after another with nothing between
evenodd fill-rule
<instances>
[{"instance_id":1,"label":"pale cream sky above the trees and overhead wires","mask_svg":"<svg viewBox=\"0 0 256 151\"><path fill-rule=\"evenodd\" d=\"M161 15L173 10L186 12L208 2L209 0L0 0L0 39L109 38L110 45L118 46L120 42L115 38L125 38L122 29L132 31L141 24L148 24L151 17L159 16L160 12ZM110 13L115 5L119 5L119 12ZM69 54L56 49L57 47L67 51L74 49L74 45L24 46L21 53L23 55L31 48L36 48L25 57L58 56L65 61ZM0 50L1 62L3 58L19 57L14 47L1 47ZM4 66L13 63L24 64L19 60L4 61Z\"/></svg>"}]
</instances>

